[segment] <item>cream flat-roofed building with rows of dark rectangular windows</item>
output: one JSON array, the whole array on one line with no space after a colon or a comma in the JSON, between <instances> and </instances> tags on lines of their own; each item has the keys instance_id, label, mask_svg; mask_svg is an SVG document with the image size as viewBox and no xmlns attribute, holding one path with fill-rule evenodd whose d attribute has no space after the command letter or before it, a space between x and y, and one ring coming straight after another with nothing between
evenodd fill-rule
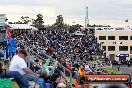
<instances>
[{"instance_id":1,"label":"cream flat-roofed building with rows of dark rectangular windows","mask_svg":"<svg viewBox=\"0 0 132 88\"><path fill-rule=\"evenodd\" d=\"M111 26L88 27L95 31L101 49L111 60L132 59L132 28L113 28Z\"/></svg>"}]
</instances>

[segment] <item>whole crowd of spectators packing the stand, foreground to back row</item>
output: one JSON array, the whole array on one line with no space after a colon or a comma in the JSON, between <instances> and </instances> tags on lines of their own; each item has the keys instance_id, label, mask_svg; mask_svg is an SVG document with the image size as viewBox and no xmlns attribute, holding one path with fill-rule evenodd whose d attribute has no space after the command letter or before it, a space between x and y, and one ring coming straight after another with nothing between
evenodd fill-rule
<instances>
[{"instance_id":1,"label":"whole crowd of spectators packing the stand, foreground to back row","mask_svg":"<svg viewBox=\"0 0 132 88\"><path fill-rule=\"evenodd\" d=\"M107 74L97 65L91 66L88 63L94 59L93 56L102 55L97 38L93 34L76 35L66 30L46 30L23 32L21 35L17 35L16 39L16 54L23 49L28 52L27 65L34 73L40 74L39 78L44 79L44 88L69 88L66 78L66 76L70 77L69 72L72 73L74 79L72 86L75 88L88 88L88 85L84 85L86 84L85 78L81 78L83 81L78 80L80 76ZM64 69L55 65L55 62L49 63L42 72L42 64L47 64L47 57L44 53L62 64L68 69L68 72L65 74ZM53 69L53 67L56 68ZM50 71L53 71L52 74Z\"/></svg>"}]
</instances>

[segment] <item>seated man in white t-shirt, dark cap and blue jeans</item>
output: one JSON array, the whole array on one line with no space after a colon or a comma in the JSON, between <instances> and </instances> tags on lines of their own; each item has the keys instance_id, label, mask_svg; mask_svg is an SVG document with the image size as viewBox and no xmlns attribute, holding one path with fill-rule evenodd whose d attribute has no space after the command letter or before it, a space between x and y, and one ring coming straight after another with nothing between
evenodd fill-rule
<instances>
[{"instance_id":1,"label":"seated man in white t-shirt, dark cap and blue jeans","mask_svg":"<svg viewBox=\"0 0 132 88\"><path fill-rule=\"evenodd\" d=\"M27 67L27 53L25 50L19 50L17 55L14 55L9 66L10 71L18 71L23 78L38 83L39 74L35 74Z\"/></svg>"}]
</instances>

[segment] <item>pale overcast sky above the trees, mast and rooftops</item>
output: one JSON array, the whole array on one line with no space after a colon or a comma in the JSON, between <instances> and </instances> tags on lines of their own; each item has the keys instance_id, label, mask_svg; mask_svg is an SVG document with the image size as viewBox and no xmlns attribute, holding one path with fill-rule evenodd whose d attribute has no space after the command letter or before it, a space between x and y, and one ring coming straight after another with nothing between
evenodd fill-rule
<instances>
[{"instance_id":1,"label":"pale overcast sky above the trees, mast and rooftops","mask_svg":"<svg viewBox=\"0 0 132 88\"><path fill-rule=\"evenodd\" d=\"M21 16L36 18L41 13L46 25L55 23L61 14L65 23L84 25L86 6L90 24L125 26L128 19L131 26L132 0L0 0L0 13L9 21L18 21Z\"/></svg>"}]
</instances>

